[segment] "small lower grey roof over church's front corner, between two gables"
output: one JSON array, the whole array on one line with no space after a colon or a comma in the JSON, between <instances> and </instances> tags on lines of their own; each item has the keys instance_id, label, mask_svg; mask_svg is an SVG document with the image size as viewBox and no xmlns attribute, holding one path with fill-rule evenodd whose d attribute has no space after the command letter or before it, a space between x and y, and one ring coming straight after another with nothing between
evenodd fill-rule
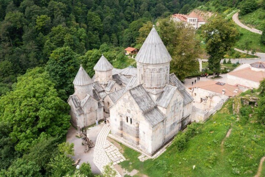
<instances>
[{"instance_id":1,"label":"small lower grey roof over church's front corner, between two gables","mask_svg":"<svg viewBox=\"0 0 265 177\"><path fill-rule=\"evenodd\" d=\"M145 112L143 116L152 127L165 119L165 115L157 107Z\"/></svg>"}]
</instances>

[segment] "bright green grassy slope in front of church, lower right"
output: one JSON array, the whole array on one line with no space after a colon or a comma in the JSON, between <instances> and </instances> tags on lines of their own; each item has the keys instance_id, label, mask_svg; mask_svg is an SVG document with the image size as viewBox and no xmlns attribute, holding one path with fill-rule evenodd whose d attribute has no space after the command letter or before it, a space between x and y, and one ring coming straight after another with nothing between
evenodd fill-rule
<instances>
[{"instance_id":1,"label":"bright green grassy slope in front of church, lower right","mask_svg":"<svg viewBox=\"0 0 265 177\"><path fill-rule=\"evenodd\" d=\"M252 113L250 106L241 108L242 114L232 115L233 101L240 102L240 99L230 99L206 122L197 123L198 133L189 140L183 151L178 152L171 145L157 159L141 162L137 158L140 155L138 152L123 146L127 160L120 165L129 171L137 169L140 174L150 177L254 176L265 154L265 130L254 116L248 116ZM230 128L232 132L221 146ZM194 170L193 165L196 166Z\"/></svg>"}]
</instances>

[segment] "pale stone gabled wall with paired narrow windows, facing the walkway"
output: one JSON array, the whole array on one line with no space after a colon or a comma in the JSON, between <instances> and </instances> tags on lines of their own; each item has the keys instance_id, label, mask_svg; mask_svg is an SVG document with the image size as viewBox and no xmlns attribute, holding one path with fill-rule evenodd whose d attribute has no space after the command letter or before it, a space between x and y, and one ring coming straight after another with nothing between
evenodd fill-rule
<instances>
[{"instance_id":1,"label":"pale stone gabled wall with paired narrow windows, facing the walkway","mask_svg":"<svg viewBox=\"0 0 265 177\"><path fill-rule=\"evenodd\" d=\"M116 105L110 107L110 122L112 134L149 154L152 153L152 128L129 92L123 95Z\"/></svg>"}]
</instances>

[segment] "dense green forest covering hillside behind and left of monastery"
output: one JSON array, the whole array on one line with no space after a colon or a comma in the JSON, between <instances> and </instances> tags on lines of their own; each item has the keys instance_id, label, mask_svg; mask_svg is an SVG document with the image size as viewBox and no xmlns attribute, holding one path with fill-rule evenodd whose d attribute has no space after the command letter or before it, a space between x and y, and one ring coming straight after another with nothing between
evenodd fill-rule
<instances>
[{"instance_id":1,"label":"dense green forest covering hillside behind and left of monastery","mask_svg":"<svg viewBox=\"0 0 265 177\"><path fill-rule=\"evenodd\" d=\"M66 100L73 94L80 64L91 77L101 54L114 67L135 64L123 49L140 47L158 21L158 32L176 58L172 68L184 78L196 65L185 57L196 58L198 53L180 56L188 54L188 47L198 51L199 44L192 43L195 36L183 25L165 19L196 7L222 12L240 4L241 0L0 0L0 176L74 173L73 147L63 142L70 126ZM174 38L167 39L168 34ZM81 166L83 174L92 176L89 169L89 164Z\"/></svg>"}]
</instances>

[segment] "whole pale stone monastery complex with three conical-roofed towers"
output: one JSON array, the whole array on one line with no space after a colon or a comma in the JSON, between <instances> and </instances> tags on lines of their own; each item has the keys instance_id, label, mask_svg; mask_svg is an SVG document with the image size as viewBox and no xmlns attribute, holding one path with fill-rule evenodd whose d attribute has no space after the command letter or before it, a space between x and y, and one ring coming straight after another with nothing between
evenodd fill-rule
<instances>
[{"instance_id":1,"label":"whole pale stone monastery complex with three conical-roofed towers","mask_svg":"<svg viewBox=\"0 0 265 177\"><path fill-rule=\"evenodd\" d=\"M84 128L109 113L114 137L153 155L191 122L193 98L169 74L172 58L154 26L135 60L137 68L120 70L102 55L92 79L80 66L68 104L73 125Z\"/></svg>"}]
</instances>

